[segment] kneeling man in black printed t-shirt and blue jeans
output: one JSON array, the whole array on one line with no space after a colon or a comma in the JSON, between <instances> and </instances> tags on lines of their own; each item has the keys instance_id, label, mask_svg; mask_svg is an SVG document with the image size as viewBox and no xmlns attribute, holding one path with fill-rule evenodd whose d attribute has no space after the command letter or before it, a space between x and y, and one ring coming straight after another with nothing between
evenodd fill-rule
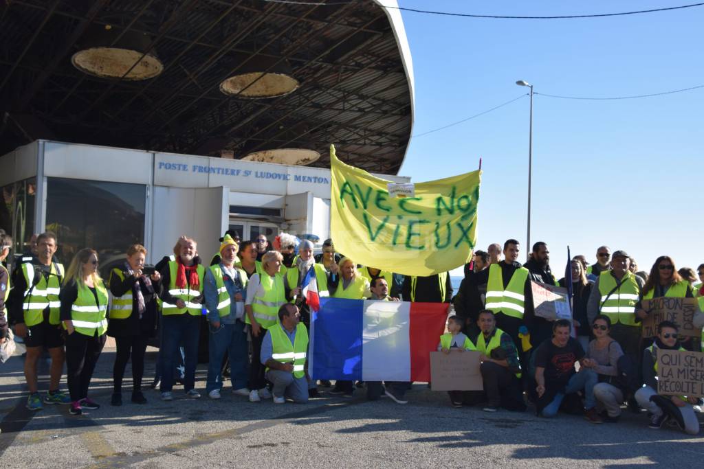
<instances>
[{"instance_id":1,"label":"kneeling man in black printed t-shirt and blue jeans","mask_svg":"<svg viewBox=\"0 0 704 469\"><path fill-rule=\"evenodd\" d=\"M584 349L576 339L570 337L571 330L570 321L558 319L553 323L553 338L543 342L535 352L538 415L554 417L566 394L584 390L584 418L591 423L601 423L594 399L598 375L582 366L579 373L574 370L577 361L582 364Z\"/></svg>"}]
</instances>

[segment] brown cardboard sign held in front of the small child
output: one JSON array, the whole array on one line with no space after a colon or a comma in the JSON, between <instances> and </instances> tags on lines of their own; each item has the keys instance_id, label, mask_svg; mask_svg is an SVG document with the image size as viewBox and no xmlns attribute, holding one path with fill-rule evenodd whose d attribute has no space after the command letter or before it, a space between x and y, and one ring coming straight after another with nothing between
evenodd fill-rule
<instances>
[{"instance_id":1,"label":"brown cardboard sign held in front of the small child","mask_svg":"<svg viewBox=\"0 0 704 469\"><path fill-rule=\"evenodd\" d=\"M434 391L481 391L484 389L479 372L479 352L451 350L450 353L430 352L430 382Z\"/></svg>"}]
</instances>

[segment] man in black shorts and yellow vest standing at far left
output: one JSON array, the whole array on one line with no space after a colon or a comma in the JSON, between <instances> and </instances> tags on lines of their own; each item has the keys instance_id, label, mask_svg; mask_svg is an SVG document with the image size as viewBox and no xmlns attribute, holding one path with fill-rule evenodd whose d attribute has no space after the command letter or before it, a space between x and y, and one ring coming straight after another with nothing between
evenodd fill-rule
<instances>
[{"instance_id":1,"label":"man in black shorts and yellow vest standing at far left","mask_svg":"<svg viewBox=\"0 0 704 469\"><path fill-rule=\"evenodd\" d=\"M44 404L70 404L70 397L59 390L63 371L63 338L59 321L61 302L58 294L63 283L63 265L54 262L56 234L51 231L37 237L37 264L25 262L13 272L13 290L9 297L11 322L15 333L27 346L25 379L30 391L27 409L42 409L37 391L37 361L44 347L49 349L49 394Z\"/></svg>"}]
</instances>

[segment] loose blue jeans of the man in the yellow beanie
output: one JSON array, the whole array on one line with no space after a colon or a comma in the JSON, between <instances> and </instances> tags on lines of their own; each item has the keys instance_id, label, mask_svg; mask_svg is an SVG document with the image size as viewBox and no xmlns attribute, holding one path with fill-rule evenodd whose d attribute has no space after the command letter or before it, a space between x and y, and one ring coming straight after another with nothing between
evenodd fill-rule
<instances>
[{"instance_id":1,"label":"loose blue jeans of the man in the yellow beanie","mask_svg":"<svg viewBox=\"0 0 704 469\"><path fill-rule=\"evenodd\" d=\"M210 342L208 342L208 383L206 392L222 389L222 357L227 352L230 356L230 380L232 389L239 390L247 387L249 371L249 350L247 348L247 335L244 333L244 323L234 321L234 324L222 324L213 330L208 326Z\"/></svg>"}]
</instances>

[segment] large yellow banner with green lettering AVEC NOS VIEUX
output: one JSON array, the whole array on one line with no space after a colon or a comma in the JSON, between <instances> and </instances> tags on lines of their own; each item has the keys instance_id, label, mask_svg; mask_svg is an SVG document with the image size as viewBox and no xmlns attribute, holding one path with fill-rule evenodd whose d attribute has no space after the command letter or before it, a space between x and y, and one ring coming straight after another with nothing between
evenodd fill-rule
<instances>
[{"instance_id":1,"label":"large yellow banner with green lettering AVEC NOS VIEUX","mask_svg":"<svg viewBox=\"0 0 704 469\"><path fill-rule=\"evenodd\" d=\"M410 276L438 274L470 261L481 171L394 184L344 164L334 146L330 165L330 231L337 252L358 264Z\"/></svg>"}]
</instances>

